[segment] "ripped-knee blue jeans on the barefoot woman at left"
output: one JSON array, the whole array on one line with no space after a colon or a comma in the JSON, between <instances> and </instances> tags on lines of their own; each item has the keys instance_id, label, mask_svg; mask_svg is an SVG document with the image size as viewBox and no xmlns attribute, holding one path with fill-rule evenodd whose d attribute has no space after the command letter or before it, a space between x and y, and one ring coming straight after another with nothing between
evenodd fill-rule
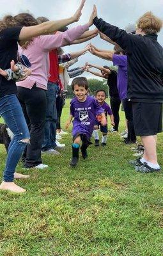
<instances>
[{"instance_id":1,"label":"ripped-knee blue jeans on the barefoot woman at left","mask_svg":"<svg viewBox=\"0 0 163 256\"><path fill-rule=\"evenodd\" d=\"M3 173L5 182L12 182L15 168L27 143L22 140L29 139L29 131L19 100L15 94L0 99L0 115L13 132L14 137L8 147L6 166Z\"/></svg>"}]
</instances>

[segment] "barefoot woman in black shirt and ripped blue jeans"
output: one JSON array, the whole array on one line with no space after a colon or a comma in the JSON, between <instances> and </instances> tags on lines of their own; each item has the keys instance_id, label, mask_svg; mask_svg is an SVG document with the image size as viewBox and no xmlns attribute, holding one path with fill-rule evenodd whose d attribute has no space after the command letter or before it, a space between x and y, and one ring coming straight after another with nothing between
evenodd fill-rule
<instances>
[{"instance_id":1,"label":"barefoot woman in black shirt and ripped blue jeans","mask_svg":"<svg viewBox=\"0 0 163 256\"><path fill-rule=\"evenodd\" d=\"M82 0L77 12L68 19L49 21L32 27L22 28L22 26L17 26L17 15L15 17L11 15L4 17L0 21L0 67L3 69L10 68L10 61L12 60L17 63L17 42L22 45L24 41L30 40L35 36L52 33L63 28L63 26L79 20L84 2ZM26 75L28 74L30 73L27 72ZM0 185L0 189L23 193L25 189L17 186L13 179L15 168L22 152L27 143L29 143L29 131L16 93L17 87L15 82L12 80L7 81L5 77L0 76L0 115L14 134L14 138L8 148L3 182Z\"/></svg>"}]
</instances>

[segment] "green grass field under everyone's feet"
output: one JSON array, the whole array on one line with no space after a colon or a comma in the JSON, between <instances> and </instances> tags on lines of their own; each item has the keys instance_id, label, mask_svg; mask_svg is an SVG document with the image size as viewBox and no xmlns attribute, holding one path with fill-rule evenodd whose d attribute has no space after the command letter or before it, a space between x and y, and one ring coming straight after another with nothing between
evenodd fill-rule
<instances>
[{"instance_id":1,"label":"green grass field under everyone's feet","mask_svg":"<svg viewBox=\"0 0 163 256\"><path fill-rule=\"evenodd\" d=\"M69 100L63 109L63 126ZM121 112L120 132L124 129ZM71 129L70 129L71 131ZM158 136L163 166L163 134ZM24 195L0 191L1 256L162 256L163 172L137 173L130 146L109 134L105 148L88 149L70 168L71 134L60 156L43 155L47 170L23 170ZM1 177L6 159L0 146Z\"/></svg>"}]
</instances>

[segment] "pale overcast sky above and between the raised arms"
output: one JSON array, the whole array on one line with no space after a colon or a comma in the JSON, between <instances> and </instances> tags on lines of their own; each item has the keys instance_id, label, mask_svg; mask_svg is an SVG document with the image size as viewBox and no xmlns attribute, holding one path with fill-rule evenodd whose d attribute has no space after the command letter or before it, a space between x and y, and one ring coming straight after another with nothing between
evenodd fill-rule
<instances>
[{"instance_id":1,"label":"pale overcast sky above and between the raised arms","mask_svg":"<svg viewBox=\"0 0 163 256\"><path fill-rule=\"evenodd\" d=\"M0 0L1 17L6 14L17 14L19 12L30 12L35 17L45 16L50 20L64 19L73 15L80 4L80 0ZM163 0L86 0L82 16L79 22L72 24L70 27L77 26L77 24L85 24L88 22L89 15L93 8L93 4L97 5L98 17L102 17L105 21L125 28L128 23L134 23L143 15L143 13L151 11L161 19L163 19ZM92 26L90 29L93 29ZM163 30L163 29L162 29ZM163 45L163 31L159 34L159 42ZM101 40L99 36L93 38L91 42L101 49L113 49L111 44ZM78 51L82 49L87 42L79 45L70 45L64 47L65 52ZM86 61L98 65L111 65L111 62L104 61L90 53L84 54L79 58L78 63L72 67L82 66ZM89 76L88 73L84 75ZM94 76L95 77L95 76Z\"/></svg>"}]
</instances>

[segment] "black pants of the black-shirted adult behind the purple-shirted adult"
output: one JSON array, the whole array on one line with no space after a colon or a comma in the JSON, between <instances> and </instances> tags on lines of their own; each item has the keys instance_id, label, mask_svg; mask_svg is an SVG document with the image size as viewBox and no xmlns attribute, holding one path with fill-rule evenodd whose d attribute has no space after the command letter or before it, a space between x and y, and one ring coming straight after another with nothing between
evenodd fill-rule
<instances>
[{"instance_id":1,"label":"black pants of the black-shirted adult behind the purple-shirted adult","mask_svg":"<svg viewBox=\"0 0 163 256\"><path fill-rule=\"evenodd\" d=\"M113 116L114 116L114 130L118 131L118 125L120 122L120 115L119 115L119 110L120 110L120 104L121 104L121 100L119 97L111 97L111 110L113 112Z\"/></svg>"}]
</instances>

